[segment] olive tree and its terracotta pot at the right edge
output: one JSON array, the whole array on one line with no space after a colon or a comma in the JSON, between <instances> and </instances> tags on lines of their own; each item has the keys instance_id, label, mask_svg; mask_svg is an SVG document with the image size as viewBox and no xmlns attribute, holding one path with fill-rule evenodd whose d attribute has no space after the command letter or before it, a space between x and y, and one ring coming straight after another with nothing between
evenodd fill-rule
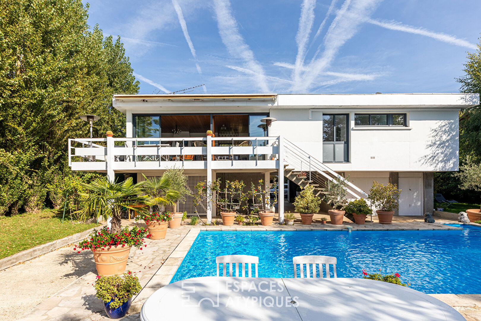
<instances>
[{"instance_id":1,"label":"olive tree and its terracotta pot at the right edge","mask_svg":"<svg viewBox=\"0 0 481 321\"><path fill-rule=\"evenodd\" d=\"M464 164L459 167L459 172L455 174L461 180L459 188L463 190L481 191L481 165L475 164L470 156L466 158ZM471 222L481 220L481 209L467 209L466 213Z\"/></svg>"}]
</instances>

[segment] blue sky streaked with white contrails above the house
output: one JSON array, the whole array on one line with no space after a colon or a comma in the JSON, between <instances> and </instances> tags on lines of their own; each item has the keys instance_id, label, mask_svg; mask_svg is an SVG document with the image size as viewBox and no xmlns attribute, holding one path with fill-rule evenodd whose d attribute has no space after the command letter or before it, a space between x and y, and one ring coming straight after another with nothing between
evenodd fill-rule
<instances>
[{"instance_id":1,"label":"blue sky streaked with white contrails above the house","mask_svg":"<svg viewBox=\"0 0 481 321\"><path fill-rule=\"evenodd\" d=\"M84 1L84 3L87 1ZM95 0L140 93L458 92L479 0Z\"/></svg>"}]
</instances>

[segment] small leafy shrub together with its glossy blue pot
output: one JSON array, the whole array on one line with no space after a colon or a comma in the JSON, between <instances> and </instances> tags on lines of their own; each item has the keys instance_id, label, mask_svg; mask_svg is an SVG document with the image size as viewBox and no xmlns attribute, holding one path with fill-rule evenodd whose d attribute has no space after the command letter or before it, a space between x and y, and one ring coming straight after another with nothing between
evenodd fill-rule
<instances>
[{"instance_id":1,"label":"small leafy shrub together with its glossy blue pot","mask_svg":"<svg viewBox=\"0 0 481 321\"><path fill-rule=\"evenodd\" d=\"M139 278L127 271L122 276L97 276L97 297L102 300L105 313L110 319L120 319L127 314L132 297L142 290Z\"/></svg>"}]
</instances>

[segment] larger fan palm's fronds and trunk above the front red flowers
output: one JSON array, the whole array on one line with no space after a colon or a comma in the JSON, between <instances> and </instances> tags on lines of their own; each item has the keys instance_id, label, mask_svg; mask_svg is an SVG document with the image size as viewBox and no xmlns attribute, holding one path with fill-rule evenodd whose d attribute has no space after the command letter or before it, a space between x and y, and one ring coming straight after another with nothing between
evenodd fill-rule
<instances>
[{"instance_id":1,"label":"larger fan palm's fronds and trunk above the front red flowers","mask_svg":"<svg viewBox=\"0 0 481 321\"><path fill-rule=\"evenodd\" d=\"M148 196L141 196L144 183L134 184L131 177L119 183L105 177L97 178L89 184L82 183L87 192L78 193L82 208L75 213L82 220L90 217L101 217L104 220L112 218L111 231L118 233L122 228L120 214L124 208L134 210L132 206L139 203L151 205ZM144 208L135 210L146 211Z\"/></svg>"}]
</instances>

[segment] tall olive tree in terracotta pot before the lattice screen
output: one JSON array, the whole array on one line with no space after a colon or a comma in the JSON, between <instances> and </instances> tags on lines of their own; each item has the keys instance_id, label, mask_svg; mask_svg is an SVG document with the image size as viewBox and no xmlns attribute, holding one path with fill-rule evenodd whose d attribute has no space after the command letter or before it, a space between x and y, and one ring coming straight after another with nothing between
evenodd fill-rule
<instances>
[{"instance_id":1,"label":"tall olive tree in terracotta pot before the lattice screen","mask_svg":"<svg viewBox=\"0 0 481 321\"><path fill-rule=\"evenodd\" d=\"M169 221L170 229L180 228L182 221L182 212L177 212L177 202L184 204L190 194L187 189L187 175L184 175L184 168L172 167L165 171L162 177L166 177L170 181L170 189L177 192L177 196L172 198L172 220Z\"/></svg>"}]
</instances>

